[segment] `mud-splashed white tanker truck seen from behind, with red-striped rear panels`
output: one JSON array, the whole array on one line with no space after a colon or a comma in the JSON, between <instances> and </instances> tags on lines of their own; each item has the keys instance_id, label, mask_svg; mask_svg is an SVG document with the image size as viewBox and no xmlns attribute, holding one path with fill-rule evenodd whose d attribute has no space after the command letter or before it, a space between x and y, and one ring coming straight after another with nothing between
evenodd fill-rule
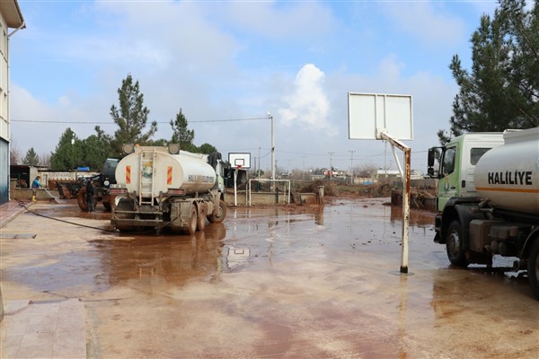
<instances>
[{"instance_id":1,"label":"mud-splashed white tanker truck seen from behind, with red-striped rear panels","mask_svg":"<svg viewBox=\"0 0 539 359\"><path fill-rule=\"evenodd\" d=\"M128 153L116 168L110 186L115 206L110 223L120 232L170 228L193 234L206 219L225 219L224 182L220 153L209 155L168 147L124 144Z\"/></svg>"}]
</instances>

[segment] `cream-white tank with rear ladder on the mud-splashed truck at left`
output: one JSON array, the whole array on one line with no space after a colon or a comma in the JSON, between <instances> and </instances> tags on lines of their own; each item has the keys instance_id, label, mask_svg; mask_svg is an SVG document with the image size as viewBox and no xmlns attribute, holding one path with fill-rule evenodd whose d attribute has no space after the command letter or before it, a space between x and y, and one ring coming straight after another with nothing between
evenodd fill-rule
<instances>
[{"instance_id":1,"label":"cream-white tank with rear ladder on the mud-splashed truck at left","mask_svg":"<svg viewBox=\"0 0 539 359\"><path fill-rule=\"evenodd\" d=\"M207 156L180 151L171 154L166 147L137 146L116 168L116 181L129 193L159 197L161 193L182 189L185 195L205 192L216 182L216 172Z\"/></svg>"}]
</instances>

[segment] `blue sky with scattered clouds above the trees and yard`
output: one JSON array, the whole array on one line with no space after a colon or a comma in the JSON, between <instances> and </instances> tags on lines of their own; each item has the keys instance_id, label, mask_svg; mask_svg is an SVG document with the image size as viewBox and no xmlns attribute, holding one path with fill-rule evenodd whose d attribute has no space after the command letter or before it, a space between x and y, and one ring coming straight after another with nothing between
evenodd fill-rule
<instances>
[{"instance_id":1,"label":"blue sky with scattered clouds above the trees and yard","mask_svg":"<svg viewBox=\"0 0 539 359\"><path fill-rule=\"evenodd\" d=\"M66 127L100 125L121 81L140 84L157 138L181 109L195 144L261 153L270 168L270 120L281 171L395 168L383 141L350 140L348 92L413 98L412 169L449 127L458 54L495 1L19 0L26 29L10 37L13 143L54 151ZM11 30L13 31L13 30ZM387 148L387 150L386 150ZM259 151L260 149L260 151ZM330 155L330 153L332 153ZM351 160L351 161L350 161ZM81 163L83 165L83 163ZM253 164L254 165L254 164Z\"/></svg>"}]
</instances>

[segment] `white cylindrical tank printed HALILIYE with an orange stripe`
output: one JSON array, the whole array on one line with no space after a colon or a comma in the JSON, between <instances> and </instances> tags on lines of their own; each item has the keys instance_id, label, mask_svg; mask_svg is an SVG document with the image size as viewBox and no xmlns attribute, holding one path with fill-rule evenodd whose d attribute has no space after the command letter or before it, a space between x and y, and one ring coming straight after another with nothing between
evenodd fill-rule
<instances>
[{"instance_id":1,"label":"white cylindrical tank printed HALILIYE with an orange stripe","mask_svg":"<svg viewBox=\"0 0 539 359\"><path fill-rule=\"evenodd\" d=\"M539 214L539 127L506 131L504 144L483 154L473 177L492 206Z\"/></svg>"}]
</instances>

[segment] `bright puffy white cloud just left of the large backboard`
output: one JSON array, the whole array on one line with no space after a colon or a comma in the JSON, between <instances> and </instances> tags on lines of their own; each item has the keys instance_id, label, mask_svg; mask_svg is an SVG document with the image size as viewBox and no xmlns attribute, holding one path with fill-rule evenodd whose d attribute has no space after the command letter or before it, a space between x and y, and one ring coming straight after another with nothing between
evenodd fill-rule
<instances>
[{"instance_id":1,"label":"bright puffy white cloud just left of the large backboard","mask_svg":"<svg viewBox=\"0 0 539 359\"><path fill-rule=\"evenodd\" d=\"M282 123L307 129L328 128L330 101L324 91L325 74L313 64L303 66L296 74L292 92L283 99L278 111Z\"/></svg>"}]
</instances>

